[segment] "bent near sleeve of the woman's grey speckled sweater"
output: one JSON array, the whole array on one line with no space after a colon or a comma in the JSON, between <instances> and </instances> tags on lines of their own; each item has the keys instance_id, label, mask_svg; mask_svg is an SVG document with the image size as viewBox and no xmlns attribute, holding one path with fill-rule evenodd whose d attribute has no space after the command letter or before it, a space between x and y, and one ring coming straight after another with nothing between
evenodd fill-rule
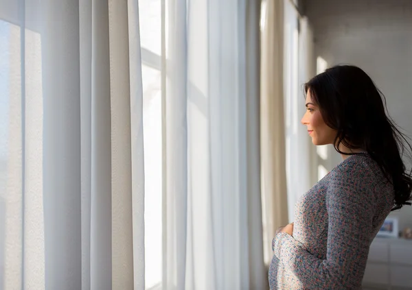
<instances>
[{"instance_id":1,"label":"bent near sleeve of the woman's grey speckled sweater","mask_svg":"<svg viewBox=\"0 0 412 290\"><path fill-rule=\"evenodd\" d=\"M375 211L373 186L370 172L361 162L330 173L325 197L325 260L310 254L289 234L280 232L273 239L275 256L295 273L305 289L361 288Z\"/></svg>"}]
</instances>

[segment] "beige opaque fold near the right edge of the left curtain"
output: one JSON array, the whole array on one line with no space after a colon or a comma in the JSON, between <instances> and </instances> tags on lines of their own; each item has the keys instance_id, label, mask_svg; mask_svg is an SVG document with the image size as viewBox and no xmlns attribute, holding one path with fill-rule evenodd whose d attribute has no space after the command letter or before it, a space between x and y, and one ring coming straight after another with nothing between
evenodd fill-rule
<instances>
[{"instance_id":1,"label":"beige opaque fold near the right edge of the left curtain","mask_svg":"<svg viewBox=\"0 0 412 290\"><path fill-rule=\"evenodd\" d=\"M108 8L111 62L112 287L133 289L130 99L137 96L130 95L128 2L109 1ZM141 109L140 112L142 114Z\"/></svg>"}]
</instances>

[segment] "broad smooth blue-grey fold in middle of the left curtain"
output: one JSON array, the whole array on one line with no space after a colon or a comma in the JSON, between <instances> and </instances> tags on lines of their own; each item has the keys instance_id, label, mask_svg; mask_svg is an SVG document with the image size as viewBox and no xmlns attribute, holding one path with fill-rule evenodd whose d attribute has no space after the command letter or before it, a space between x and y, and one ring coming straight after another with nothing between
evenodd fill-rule
<instances>
[{"instance_id":1,"label":"broad smooth blue-grey fold in middle of the left curtain","mask_svg":"<svg viewBox=\"0 0 412 290\"><path fill-rule=\"evenodd\" d=\"M42 8L45 289L79 289L82 267L79 5L73 1L45 1ZM28 249L25 240L16 242L23 243L23 251ZM24 273L22 278L25 282Z\"/></svg>"}]
</instances>

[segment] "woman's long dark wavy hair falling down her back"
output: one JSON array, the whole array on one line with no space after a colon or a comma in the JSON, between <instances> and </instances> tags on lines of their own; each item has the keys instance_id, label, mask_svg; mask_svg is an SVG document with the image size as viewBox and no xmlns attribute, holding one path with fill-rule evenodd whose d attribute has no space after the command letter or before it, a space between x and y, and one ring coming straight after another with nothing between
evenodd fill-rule
<instances>
[{"instance_id":1,"label":"woman's long dark wavy hair falling down her back","mask_svg":"<svg viewBox=\"0 0 412 290\"><path fill-rule=\"evenodd\" d=\"M387 114L385 96L369 75L358 67L338 65L313 77L304 87L305 93L310 90L325 123L337 131L336 151L347 154L339 150L341 144L365 149L393 184L392 210L411 205L411 171L402 160L411 156L410 139Z\"/></svg>"}]
</instances>

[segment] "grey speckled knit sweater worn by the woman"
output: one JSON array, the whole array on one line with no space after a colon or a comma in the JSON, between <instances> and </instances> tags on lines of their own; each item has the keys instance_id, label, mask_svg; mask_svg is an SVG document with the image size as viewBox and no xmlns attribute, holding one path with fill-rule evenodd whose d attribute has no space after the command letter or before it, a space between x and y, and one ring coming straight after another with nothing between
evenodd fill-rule
<instances>
[{"instance_id":1,"label":"grey speckled knit sweater worn by the woman","mask_svg":"<svg viewBox=\"0 0 412 290\"><path fill-rule=\"evenodd\" d=\"M361 289L393 186L367 154L346 158L295 205L293 237L273 239L271 289Z\"/></svg>"}]
</instances>

